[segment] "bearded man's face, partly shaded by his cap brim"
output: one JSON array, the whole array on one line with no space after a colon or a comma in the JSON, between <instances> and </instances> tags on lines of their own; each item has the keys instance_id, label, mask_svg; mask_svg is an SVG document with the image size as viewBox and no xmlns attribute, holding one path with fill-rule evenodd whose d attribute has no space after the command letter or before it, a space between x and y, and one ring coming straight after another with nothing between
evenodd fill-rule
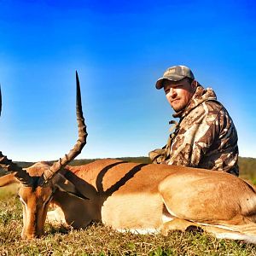
<instances>
[{"instance_id":1,"label":"bearded man's face, partly shaded by his cap brim","mask_svg":"<svg viewBox=\"0 0 256 256\"><path fill-rule=\"evenodd\" d=\"M191 97L195 93L195 80L190 84L189 79L182 79L177 82L164 80L164 90L166 99L172 106L175 112L179 112L185 108Z\"/></svg>"}]
</instances>

